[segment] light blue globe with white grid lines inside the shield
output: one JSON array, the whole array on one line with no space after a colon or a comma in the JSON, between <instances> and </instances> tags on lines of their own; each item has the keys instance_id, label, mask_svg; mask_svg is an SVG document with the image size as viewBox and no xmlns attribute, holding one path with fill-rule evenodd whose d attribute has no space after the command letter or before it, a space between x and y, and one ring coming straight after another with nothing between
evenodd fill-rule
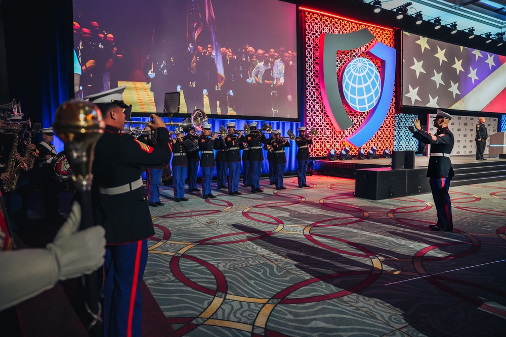
<instances>
[{"instance_id":1,"label":"light blue globe with white grid lines inside the shield","mask_svg":"<svg viewBox=\"0 0 506 337\"><path fill-rule=\"evenodd\" d=\"M366 58L356 58L346 65L341 85L346 102L357 112L369 111L379 101L381 94L379 71Z\"/></svg>"}]
</instances>

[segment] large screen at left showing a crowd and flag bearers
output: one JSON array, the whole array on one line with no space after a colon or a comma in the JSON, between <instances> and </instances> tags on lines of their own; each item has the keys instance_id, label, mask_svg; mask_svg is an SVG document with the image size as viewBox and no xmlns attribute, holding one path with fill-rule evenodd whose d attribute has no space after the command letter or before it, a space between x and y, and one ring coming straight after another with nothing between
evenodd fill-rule
<instances>
[{"instance_id":1,"label":"large screen at left showing a crowd and flag bearers","mask_svg":"<svg viewBox=\"0 0 506 337\"><path fill-rule=\"evenodd\" d=\"M297 120L296 5L278 0L73 0L77 97L126 85L133 112ZM75 76L74 76L75 77ZM77 84L77 83L74 83Z\"/></svg>"}]
</instances>

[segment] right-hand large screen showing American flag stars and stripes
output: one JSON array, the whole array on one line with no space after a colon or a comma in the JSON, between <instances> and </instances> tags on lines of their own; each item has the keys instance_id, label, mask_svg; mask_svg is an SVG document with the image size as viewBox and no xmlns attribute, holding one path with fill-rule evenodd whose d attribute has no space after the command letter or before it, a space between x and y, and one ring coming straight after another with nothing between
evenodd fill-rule
<instances>
[{"instance_id":1,"label":"right-hand large screen showing American flag stars and stripes","mask_svg":"<svg viewBox=\"0 0 506 337\"><path fill-rule=\"evenodd\" d=\"M402 105L506 112L506 57L404 32Z\"/></svg>"}]
</instances>

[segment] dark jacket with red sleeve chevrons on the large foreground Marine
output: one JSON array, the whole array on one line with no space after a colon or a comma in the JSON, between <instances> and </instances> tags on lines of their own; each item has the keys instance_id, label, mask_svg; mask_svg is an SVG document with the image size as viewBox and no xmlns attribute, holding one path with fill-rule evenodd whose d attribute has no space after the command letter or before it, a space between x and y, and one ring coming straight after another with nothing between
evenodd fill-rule
<instances>
[{"instance_id":1,"label":"dark jacket with red sleeve chevrons on the large foreground Marine","mask_svg":"<svg viewBox=\"0 0 506 337\"><path fill-rule=\"evenodd\" d=\"M107 125L95 146L93 208L97 224L105 229L107 244L125 244L154 234L144 187L117 195L98 188L118 187L139 180L141 166L165 164L171 159L168 130L158 129L158 143L150 147L130 134Z\"/></svg>"}]
</instances>

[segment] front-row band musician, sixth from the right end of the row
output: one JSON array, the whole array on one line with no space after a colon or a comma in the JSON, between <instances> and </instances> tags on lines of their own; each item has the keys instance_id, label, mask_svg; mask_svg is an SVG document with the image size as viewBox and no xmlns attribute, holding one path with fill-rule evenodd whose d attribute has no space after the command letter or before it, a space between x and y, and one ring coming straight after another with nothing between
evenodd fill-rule
<instances>
[{"instance_id":1,"label":"front-row band musician, sixth from the right end of the row","mask_svg":"<svg viewBox=\"0 0 506 337\"><path fill-rule=\"evenodd\" d=\"M190 150L184 141L184 131L182 127L174 130L176 137L172 139L172 176L174 178L174 200L178 203L189 201L185 198L185 178L188 173L188 158L186 151Z\"/></svg>"}]
</instances>

